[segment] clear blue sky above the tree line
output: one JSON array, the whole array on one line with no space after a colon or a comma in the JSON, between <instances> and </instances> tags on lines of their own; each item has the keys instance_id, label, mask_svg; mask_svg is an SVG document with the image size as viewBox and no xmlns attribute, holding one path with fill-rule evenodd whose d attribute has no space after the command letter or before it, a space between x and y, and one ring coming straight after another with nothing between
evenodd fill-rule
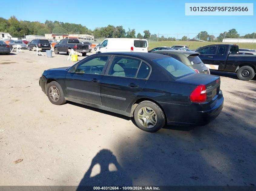
<instances>
[{"instance_id":1,"label":"clear blue sky above the tree line","mask_svg":"<svg viewBox=\"0 0 256 191\"><path fill-rule=\"evenodd\" d=\"M13 0L1 3L3 7L9 8L2 9L0 17L8 19L11 15L15 15L18 20L42 23L45 20L56 20L82 24L92 30L95 27L105 27L108 24L122 25L126 31L128 27L134 28L136 34L138 32L144 34L144 30L149 30L151 34L187 34L199 33L204 30L208 33L222 33L232 28L235 28L240 34L256 32L255 11L254 16L185 16L185 2L254 3L254 10L256 5L255 0L44 0L39 2ZM45 9L46 7L47 9ZM189 37L194 36L194 34L189 35Z\"/></svg>"}]
</instances>

